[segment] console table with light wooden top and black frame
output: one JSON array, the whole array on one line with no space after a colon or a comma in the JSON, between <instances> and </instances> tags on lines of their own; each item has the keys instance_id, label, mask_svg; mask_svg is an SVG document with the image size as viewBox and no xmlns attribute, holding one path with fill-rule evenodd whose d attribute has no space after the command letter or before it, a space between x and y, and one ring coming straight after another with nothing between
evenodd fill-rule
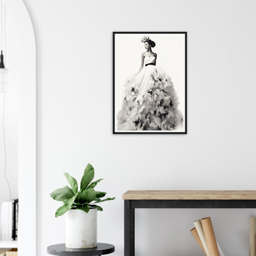
<instances>
[{"instance_id":1,"label":"console table with light wooden top and black frame","mask_svg":"<svg viewBox=\"0 0 256 256\"><path fill-rule=\"evenodd\" d=\"M124 199L124 256L135 256L136 208L256 208L255 190L127 191Z\"/></svg>"}]
</instances>

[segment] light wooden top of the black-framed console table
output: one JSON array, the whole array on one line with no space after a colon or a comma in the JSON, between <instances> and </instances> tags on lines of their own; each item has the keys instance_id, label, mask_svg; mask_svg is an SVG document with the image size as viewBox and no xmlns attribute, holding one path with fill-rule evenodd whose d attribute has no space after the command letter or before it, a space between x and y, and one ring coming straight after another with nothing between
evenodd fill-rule
<instances>
[{"instance_id":1,"label":"light wooden top of the black-framed console table","mask_svg":"<svg viewBox=\"0 0 256 256\"><path fill-rule=\"evenodd\" d=\"M256 190L129 190L124 200L256 200Z\"/></svg>"}]
</instances>

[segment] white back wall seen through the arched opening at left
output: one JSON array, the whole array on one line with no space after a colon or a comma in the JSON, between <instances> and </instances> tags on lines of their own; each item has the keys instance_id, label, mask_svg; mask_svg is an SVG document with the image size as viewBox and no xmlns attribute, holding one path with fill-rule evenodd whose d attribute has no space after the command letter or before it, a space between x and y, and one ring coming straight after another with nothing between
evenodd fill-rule
<instances>
[{"instance_id":1,"label":"white back wall seen through the arched opening at left","mask_svg":"<svg viewBox=\"0 0 256 256\"><path fill-rule=\"evenodd\" d=\"M4 8L3 8L4 14ZM4 24L4 19L3 19ZM1 31L1 2L0 2L0 31ZM8 71L8 86L5 95L0 93L0 202L9 201L9 187L4 178L4 132L6 140L6 177L10 184L12 199L18 198L18 40L9 12L6 9L6 44L3 29L3 46L0 48L4 54L4 65ZM1 54L0 49L0 54ZM0 89L1 90L1 89Z\"/></svg>"}]
</instances>

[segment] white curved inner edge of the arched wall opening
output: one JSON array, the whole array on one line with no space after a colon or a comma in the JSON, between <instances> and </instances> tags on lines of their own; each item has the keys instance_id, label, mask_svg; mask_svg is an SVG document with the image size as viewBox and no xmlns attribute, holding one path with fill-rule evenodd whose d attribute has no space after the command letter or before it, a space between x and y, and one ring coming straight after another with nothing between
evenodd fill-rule
<instances>
[{"instance_id":1,"label":"white curved inner edge of the arched wall opening","mask_svg":"<svg viewBox=\"0 0 256 256\"><path fill-rule=\"evenodd\" d=\"M22 0L2 0L18 39L18 255L36 255L36 41Z\"/></svg>"}]
</instances>

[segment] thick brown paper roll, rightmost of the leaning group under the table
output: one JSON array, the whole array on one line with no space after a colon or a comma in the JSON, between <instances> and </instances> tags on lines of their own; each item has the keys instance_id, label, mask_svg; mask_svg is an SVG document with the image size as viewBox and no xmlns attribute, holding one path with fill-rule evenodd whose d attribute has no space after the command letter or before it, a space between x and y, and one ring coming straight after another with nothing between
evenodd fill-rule
<instances>
[{"instance_id":1,"label":"thick brown paper roll, rightmost of the leaning group under the table","mask_svg":"<svg viewBox=\"0 0 256 256\"><path fill-rule=\"evenodd\" d=\"M220 256L215 239L214 228L212 227L212 221L210 220L210 217L202 218L201 222L210 256Z\"/></svg>"}]
</instances>

